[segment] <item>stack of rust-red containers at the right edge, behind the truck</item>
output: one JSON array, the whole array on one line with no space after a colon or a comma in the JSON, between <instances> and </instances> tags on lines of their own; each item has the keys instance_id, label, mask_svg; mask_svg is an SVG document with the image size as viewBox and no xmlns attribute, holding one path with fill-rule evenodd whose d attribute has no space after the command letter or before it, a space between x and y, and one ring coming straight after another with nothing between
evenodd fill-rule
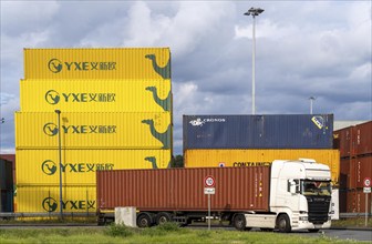
<instances>
[{"instance_id":1,"label":"stack of rust-red containers at the right edge, behind the truck","mask_svg":"<svg viewBox=\"0 0 372 244\"><path fill-rule=\"evenodd\" d=\"M340 211L365 213L363 181L372 179L372 121L334 131L333 135L334 148L340 150ZM371 205L368 211L372 212Z\"/></svg>"}]
</instances>

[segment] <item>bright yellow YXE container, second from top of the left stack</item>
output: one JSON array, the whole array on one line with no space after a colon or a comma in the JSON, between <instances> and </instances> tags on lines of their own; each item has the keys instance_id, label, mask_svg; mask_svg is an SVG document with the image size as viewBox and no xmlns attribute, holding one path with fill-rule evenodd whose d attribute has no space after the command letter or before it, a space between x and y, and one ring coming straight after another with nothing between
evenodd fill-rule
<instances>
[{"instance_id":1,"label":"bright yellow YXE container, second from top of the left stack","mask_svg":"<svg viewBox=\"0 0 372 244\"><path fill-rule=\"evenodd\" d=\"M21 80L22 112L172 111L170 80Z\"/></svg>"}]
</instances>

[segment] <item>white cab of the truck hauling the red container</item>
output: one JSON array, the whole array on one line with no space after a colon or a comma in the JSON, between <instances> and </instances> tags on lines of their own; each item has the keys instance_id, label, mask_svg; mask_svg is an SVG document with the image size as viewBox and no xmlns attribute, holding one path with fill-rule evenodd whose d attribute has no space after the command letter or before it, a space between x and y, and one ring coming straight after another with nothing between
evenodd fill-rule
<instances>
[{"instance_id":1,"label":"white cab of the truck hauling the red container","mask_svg":"<svg viewBox=\"0 0 372 244\"><path fill-rule=\"evenodd\" d=\"M246 227L280 232L331 226L331 172L313 160L276 160L271 164L270 213L246 214Z\"/></svg>"}]
</instances>

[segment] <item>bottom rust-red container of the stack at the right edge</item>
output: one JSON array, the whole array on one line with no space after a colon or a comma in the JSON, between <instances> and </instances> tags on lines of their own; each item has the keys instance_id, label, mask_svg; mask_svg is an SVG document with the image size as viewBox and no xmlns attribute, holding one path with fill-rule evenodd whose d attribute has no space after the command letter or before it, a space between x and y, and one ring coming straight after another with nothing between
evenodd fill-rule
<instances>
[{"instance_id":1,"label":"bottom rust-red container of the stack at the right edge","mask_svg":"<svg viewBox=\"0 0 372 244\"><path fill-rule=\"evenodd\" d=\"M365 197L368 195L366 211L372 212L371 194L363 193L363 190L354 190L348 192L348 213L365 213Z\"/></svg>"}]
</instances>

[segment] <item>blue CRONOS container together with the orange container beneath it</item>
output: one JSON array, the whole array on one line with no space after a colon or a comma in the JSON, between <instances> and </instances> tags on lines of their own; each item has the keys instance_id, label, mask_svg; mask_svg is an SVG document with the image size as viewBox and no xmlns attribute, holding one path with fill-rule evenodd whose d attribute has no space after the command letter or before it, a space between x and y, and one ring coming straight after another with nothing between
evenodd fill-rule
<instances>
[{"instance_id":1,"label":"blue CRONOS container together with the orange container beneath it","mask_svg":"<svg viewBox=\"0 0 372 244\"><path fill-rule=\"evenodd\" d=\"M257 166L273 160L313 159L340 173L332 148L332 114L184 115L186 167Z\"/></svg>"}]
</instances>

